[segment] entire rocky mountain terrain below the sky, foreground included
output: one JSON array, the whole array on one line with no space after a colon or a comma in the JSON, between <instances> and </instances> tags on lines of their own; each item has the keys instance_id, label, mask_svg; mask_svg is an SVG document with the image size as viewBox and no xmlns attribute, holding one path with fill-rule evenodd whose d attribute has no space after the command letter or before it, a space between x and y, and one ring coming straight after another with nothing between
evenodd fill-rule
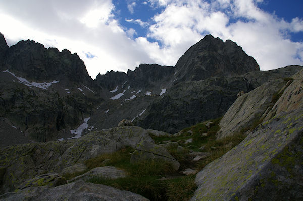
<instances>
[{"instance_id":1,"label":"entire rocky mountain terrain below the sky, foreground included","mask_svg":"<svg viewBox=\"0 0 303 201\"><path fill-rule=\"evenodd\" d=\"M277 66L278 68L279 66ZM302 200L303 68L205 36L95 80L0 34L0 200Z\"/></svg>"}]
</instances>

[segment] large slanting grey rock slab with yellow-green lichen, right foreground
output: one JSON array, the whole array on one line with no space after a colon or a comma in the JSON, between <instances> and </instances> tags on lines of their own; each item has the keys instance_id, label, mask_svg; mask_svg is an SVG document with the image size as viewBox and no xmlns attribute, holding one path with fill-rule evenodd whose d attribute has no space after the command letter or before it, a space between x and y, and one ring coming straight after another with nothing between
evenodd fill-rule
<instances>
[{"instance_id":1,"label":"large slanting grey rock slab with yellow-green lichen, right foreground","mask_svg":"<svg viewBox=\"0 0 303 201\"><path fill-rule=\"evenodd\" d=\"M301 100L302 79L300 71L277 102ZM286 107L200 171L191 200L302 199L303 107L295 101Z\"/></svg>"}]
</instances>

